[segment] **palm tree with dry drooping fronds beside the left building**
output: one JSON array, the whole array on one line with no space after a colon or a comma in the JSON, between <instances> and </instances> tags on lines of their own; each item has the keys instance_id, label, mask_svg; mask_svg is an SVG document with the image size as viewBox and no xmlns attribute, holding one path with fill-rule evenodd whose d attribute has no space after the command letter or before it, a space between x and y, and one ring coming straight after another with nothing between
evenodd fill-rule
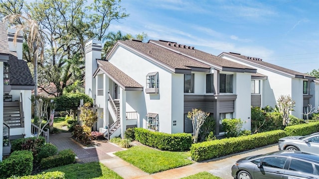
<instances>
[{"instance_id":1,"label":"palm tree with dry drooping fronds beside the left building","mask_svg":"<svg viewBox=\"0 0 319 179\"><path fill-rule=\"evenodd\" d=\"M3 18L3 22L9 22L11 24L17 25L12 26L11 28L15 28L16 32L14 34L13 42L16 43L16 38L18 33L21 31L25 34L25 40L28 48L29 61L33 62L34 67L34 96L37 96L37 83L38 83L38 75L37 75L37 65L38 65L38 57L40 62L43 60L43 51L45 45L45 38L43 36L44 32L41 31L39 23L36 20L33 20L29 14L23 16L21 14L9 14ZM40 53L38 53L40 51ZM34 108L34 116L37 116L37 103Z\"/></svg>"}]
</instances>

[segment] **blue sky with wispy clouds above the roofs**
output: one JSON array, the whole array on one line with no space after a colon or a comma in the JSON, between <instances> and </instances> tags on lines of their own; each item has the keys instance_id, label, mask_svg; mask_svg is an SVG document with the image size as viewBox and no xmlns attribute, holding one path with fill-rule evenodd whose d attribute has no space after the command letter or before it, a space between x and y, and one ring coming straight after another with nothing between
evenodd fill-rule
<instances>
[{"instance_id":1,"label":"blue sky with wispy clouds above the roofs","mask_svg":"<svg viewBox=\"0 0 319 179\"><path fill-rule=\"evenodd\" d=\"M89 0L90 1L90 0ZM319 0L122 0L109 31L236 52L299 72L319 69Z\"/></svg>"}]
</instances>

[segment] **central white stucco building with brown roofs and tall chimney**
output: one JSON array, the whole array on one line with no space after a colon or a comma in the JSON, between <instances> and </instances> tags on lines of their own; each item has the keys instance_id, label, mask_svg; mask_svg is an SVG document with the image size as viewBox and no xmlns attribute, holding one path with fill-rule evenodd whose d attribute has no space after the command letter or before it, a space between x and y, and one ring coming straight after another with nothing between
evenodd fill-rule
<instances>
[{"instance_id":1,"label":"central white stucco building with brown roofs and tall chimney","mask_svg":"<svg viewBox=\"0 0 319 179\"><path fill-rule=\"evenodd\" d=\"M256 68L162 40L118 41L103 60L101 46L91 40L85 48L85 91L103 114L101 131L110 124L109 130L122 137L131 127L190 133L186 114L192 108L216 119L217 135L223 134L219 124L224 118L240 118L250 130Z\"/></svg>"}]
</instances>

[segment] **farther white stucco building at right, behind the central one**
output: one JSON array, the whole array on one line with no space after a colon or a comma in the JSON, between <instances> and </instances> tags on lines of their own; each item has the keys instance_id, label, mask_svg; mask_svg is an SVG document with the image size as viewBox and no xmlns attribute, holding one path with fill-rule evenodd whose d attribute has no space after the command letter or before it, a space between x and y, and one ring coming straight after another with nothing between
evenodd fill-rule
<instances>
[{"instance_id":1,"label":"farther white stucco building at right, behind the central one","mask_svg":"<svg viewBox=\"0 0 319 179\"><path fill-rule=\"evenodd\" d=\"M239 53L223 52L221 58L257 69L259 77L252 75L252 86L258 92L252 92L252 106L275 107L279 96L290 95L296 102L292 115L303 119L310 108L319 108L319 81L314 76L267 63L260 58ZM252 87L253 88L253 87Z\"/></svg>"}]
</instances>

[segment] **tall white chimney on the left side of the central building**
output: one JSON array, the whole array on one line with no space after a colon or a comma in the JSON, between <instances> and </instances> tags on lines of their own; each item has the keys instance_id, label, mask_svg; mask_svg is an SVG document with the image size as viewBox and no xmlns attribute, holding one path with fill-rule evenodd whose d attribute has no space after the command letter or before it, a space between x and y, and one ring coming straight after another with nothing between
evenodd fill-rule
<instances>
[{"instance_id":1,"label":"tall white chimney on the left side of the central building","mask_svg":"<svg viewBox=\"0 0 319 179\"><path fill-rule=\"evenodd\" d=\"M101 59L102 43L98 40L90 40L85 44L85 94L95 99L96 82L93 73L97 69L96 59Z\"/></svg>"}]
</instances>

